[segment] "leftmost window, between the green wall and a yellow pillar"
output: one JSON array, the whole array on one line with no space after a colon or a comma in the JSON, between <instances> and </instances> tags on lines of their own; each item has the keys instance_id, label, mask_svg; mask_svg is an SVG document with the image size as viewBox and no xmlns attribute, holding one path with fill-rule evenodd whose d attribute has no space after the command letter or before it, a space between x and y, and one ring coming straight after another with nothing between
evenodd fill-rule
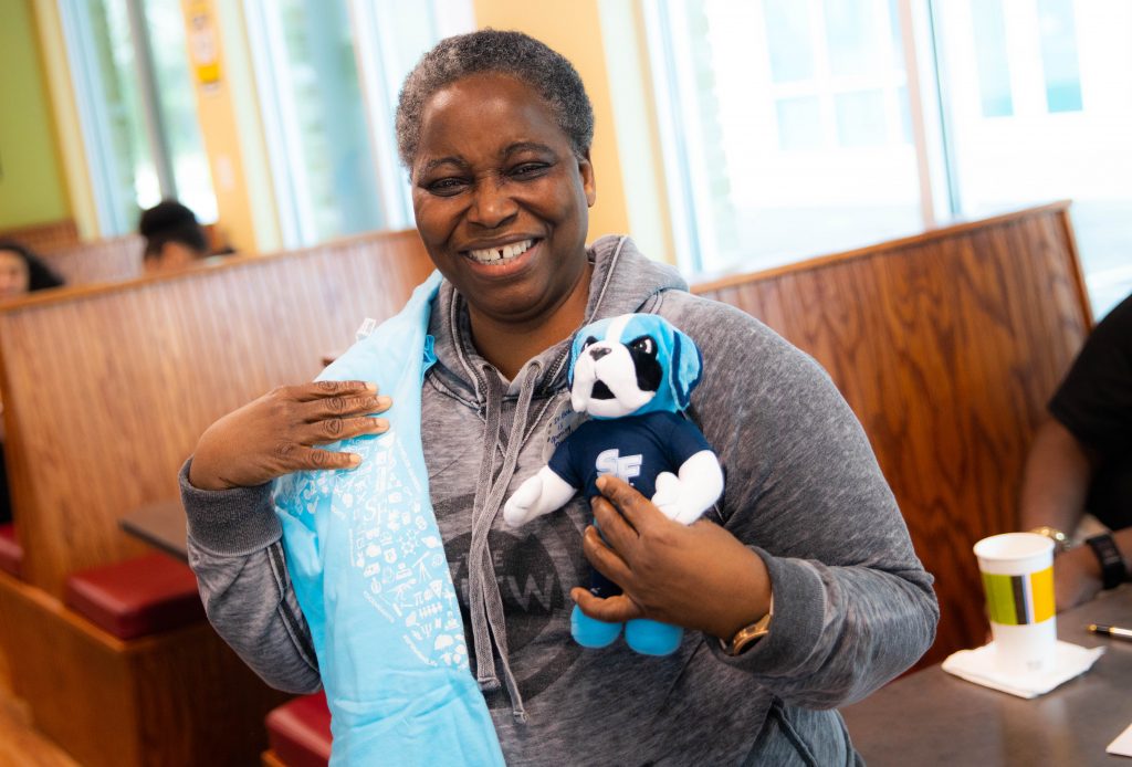
<instances>
[{"instance_id":1,"label":"leftmost window, between the green wall and a yellow pillar","mask_svg":"<svg viewBox=\"0 0 1132 767\"><path fill-rule=\"evenodd\" d=\"M134 231L162 198L215 221L180 0L59 7L102 233Z\"/></svg>"}]
</instances>

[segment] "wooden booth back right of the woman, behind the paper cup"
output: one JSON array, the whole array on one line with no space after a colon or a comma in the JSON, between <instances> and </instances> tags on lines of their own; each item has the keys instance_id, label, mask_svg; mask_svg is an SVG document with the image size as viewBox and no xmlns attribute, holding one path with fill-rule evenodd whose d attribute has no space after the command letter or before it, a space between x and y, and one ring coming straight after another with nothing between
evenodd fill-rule
<instances>
[{"instance_id":1,"label":"wooden booth back right of the woman, behind the paper cup","mask_svg":"<svg viewBox=\"0 0 1132 767\"><path fill-rule=\"evenodd\" d=\"M971 546L1018 528L1027 450L1092 319L1061 202L694 288L812 354L860 419L942 618L983 644Z\"/></svg>"}]
</instances>

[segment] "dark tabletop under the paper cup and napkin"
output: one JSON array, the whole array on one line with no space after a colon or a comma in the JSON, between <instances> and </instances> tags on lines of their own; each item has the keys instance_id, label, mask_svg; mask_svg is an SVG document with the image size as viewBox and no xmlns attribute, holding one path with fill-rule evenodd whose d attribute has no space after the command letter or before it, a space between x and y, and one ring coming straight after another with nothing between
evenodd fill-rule
<instances>
[{"instance_id":1,"label":"dark tabletop under the paper cup and napkin","mask_svg":"<svg viewBox=\"0 0 1132 767\"><path fill-rule=\"evenodd\" d=\"M886 765L1123 765L1105 753L1132 724L1132 643L1089 623L1132 626L1132 585L1057 615L1057 635L1107 650L1084 675L1027 700L952 676L938 665L841 709L869 767Z\"/></svg>"}]
</instances>

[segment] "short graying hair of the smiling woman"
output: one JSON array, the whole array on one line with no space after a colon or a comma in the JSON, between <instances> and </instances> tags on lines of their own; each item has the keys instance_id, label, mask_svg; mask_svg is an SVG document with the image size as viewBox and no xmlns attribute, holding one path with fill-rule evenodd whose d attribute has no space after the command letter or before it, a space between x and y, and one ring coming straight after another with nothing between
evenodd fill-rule
<instances>
[{"instance_id":1,"label":"short graying hair of the smiling woman","mask_svg":"<svg viewBox=\"0 0 1132 767\"><path fill-rule=\"evenodd\" d=\"M424 104L452 83L479 72L509 75L531 86L550 106L558 127L581 157L593 141L593 106L574 66L522 32L480 29L441 40L405 78L397 101L397 152L412 169Z\"/></svg>"}]
</instances>

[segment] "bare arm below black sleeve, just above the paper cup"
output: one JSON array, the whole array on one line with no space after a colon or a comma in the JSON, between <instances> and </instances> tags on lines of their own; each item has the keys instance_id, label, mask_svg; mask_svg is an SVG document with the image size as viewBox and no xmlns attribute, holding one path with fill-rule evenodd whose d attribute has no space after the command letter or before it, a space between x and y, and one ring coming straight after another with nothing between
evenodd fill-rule
<instances>
[{"instance_id":1,"label":"bare arm below black sleeve, just above the paper cup","mask_svg":"<svg viewBox=\"0 0 1132 767\"><path fill-rule=\"evenodd\" d=\"M1020 497L1022 529L1048 525L1072 535L1084 515L1097 454L1061 421L1048 417L1026 458Z\"/></svg>"}]
</instances>

